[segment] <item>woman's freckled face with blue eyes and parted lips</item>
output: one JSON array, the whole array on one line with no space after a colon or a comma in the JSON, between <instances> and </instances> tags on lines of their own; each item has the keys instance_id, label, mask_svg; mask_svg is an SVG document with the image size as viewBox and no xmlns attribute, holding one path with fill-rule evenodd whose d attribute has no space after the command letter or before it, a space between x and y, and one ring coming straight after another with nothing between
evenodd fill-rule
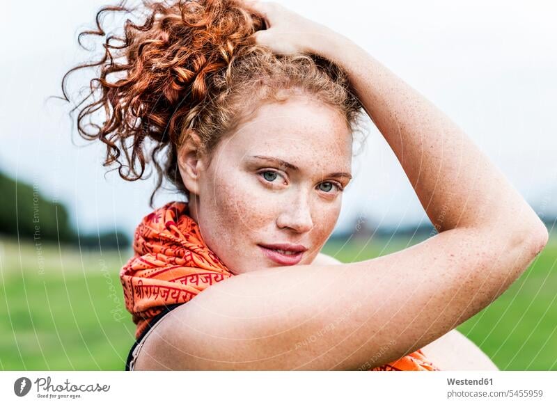
<instances>
[{"instance_id":1,"label":"woman's freckled face with blue eyes and parted lips","mask_svg":"<svg viewBox=\"0 0 557 405\"><path fill-rule=\"evenodd\" d=\"M352 134L342 113L303 96L262 104L211 159L200 166L189 209L226 267L239 274L311 264L351 178ZM292 255L269 246L276 244L306 250Z\"/></svg>"}]
</instances>

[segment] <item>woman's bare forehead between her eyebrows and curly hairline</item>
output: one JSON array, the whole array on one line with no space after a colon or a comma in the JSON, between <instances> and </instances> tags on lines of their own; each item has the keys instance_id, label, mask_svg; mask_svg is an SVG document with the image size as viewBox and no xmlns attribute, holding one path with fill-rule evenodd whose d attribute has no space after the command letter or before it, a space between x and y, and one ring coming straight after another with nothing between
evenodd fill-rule
<instances>
[{"instance_id":1,"label":"woman's bare forehead between her eyebrows and curly hairline","mask_svg":"<svg viewBox=\"0 0 557 405\"><path fill-rule=\"evenodd\" d=\"M350 171L352 134L343 113L307 97L262 104L223 142L226 154L244 160L273 156L300 168Z\"/></svg>"}]
</instances>

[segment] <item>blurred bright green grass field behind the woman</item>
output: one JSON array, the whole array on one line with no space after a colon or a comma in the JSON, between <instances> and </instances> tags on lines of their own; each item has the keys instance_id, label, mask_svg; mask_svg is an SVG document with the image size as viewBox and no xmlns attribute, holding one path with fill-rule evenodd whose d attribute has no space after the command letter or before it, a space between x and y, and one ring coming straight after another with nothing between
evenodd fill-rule
<instances>
[{"instance_id":1,"label":"blurred bright green grass field behind the woman","mask_svg":"<svg viewBox=\"0 0 557 405\"><path fill-rule=\"evenodd\" d=\"M415 244L328 243L343 262ZM118 271L131 251L80 253L0 239L0 370L123 370L134 324ZM488 308L459 326L501 370L557 370L557 238Z\"/></svg>"}]
</instances>

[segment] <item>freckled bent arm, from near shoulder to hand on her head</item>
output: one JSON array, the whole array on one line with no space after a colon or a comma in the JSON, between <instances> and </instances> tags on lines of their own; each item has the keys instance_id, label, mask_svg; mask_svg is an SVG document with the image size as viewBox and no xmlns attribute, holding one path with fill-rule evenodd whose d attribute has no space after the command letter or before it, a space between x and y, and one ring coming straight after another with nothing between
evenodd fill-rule
<instances>
[{"instance_id":1,"label":"freckled bent arm, from near shoulder to hand on her head","mask_svg":"<svg viewBox=\"0 0 557 405\"><path fill-rule=\"evenodd\" d=\"M358 370L396 360L502 294L547 230L457 125L361 47L281 6L253 7L269 26L259 43L320 54L349 74L440 233L364 262L223 280L174 310L164 342L146 350L160 368L185 370Z\"/></svg>"}]
</instances>

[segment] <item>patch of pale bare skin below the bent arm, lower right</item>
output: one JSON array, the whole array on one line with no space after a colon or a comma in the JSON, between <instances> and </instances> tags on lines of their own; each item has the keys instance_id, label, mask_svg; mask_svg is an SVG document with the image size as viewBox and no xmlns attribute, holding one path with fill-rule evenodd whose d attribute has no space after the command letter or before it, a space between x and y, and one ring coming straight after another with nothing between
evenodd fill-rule
<instances>
[{"instance_id":1,"label":"patch of pale bare skin below the bent arm, lower right","mask_svg":"<svg viewBox=\"0 0 557 405\"><path fill-rule=\"evenodd\" d=\"M427 344L422 351L441 370L499 370L474 342L456 329Z\"/></svg>"}]
</instances>

